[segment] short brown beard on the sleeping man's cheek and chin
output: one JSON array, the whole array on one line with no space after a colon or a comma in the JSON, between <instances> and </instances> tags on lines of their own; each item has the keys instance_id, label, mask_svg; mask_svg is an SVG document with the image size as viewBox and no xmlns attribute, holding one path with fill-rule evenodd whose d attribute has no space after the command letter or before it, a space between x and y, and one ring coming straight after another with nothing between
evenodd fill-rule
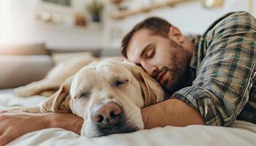
<instances>
[{"instance_id":1,"label":"short brown beard on the sleeping man's cheek and chin","mask_svg":"<svg viewBox=\"0 0 256 146\"><path fill-rule=\"evenodd\" d=\"M163 66L159 72L165 72L166 70L170 72L169 81L163 82L162 86L167 92L174 93L187 85L186 82L188 81L186 81L185 74L189 66L189 53L184 47L172 40L170 40L170 45L176 48L176 53L170 55L170 64Z\"/></svg>"}]
</instances>

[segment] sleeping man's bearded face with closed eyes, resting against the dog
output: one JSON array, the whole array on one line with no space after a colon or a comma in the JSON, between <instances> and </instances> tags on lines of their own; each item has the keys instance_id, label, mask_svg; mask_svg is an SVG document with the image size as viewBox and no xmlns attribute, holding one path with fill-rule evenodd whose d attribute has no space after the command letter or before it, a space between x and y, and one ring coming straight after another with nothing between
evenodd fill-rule
<instances>
[{"instance_id":1,"label":"sleeping man's bearded face with closed eyes, resting against the dog","mask_svg":"<svg viewBox=\"0 0 256 146\"><path fill-rule=\"evenodd\" d=\"M181 82L189 64L187 50L170 36L162 37L140 29L127 47L127 58L143 67L165 90L172 92Z\"/></svg>"}]
</instances>

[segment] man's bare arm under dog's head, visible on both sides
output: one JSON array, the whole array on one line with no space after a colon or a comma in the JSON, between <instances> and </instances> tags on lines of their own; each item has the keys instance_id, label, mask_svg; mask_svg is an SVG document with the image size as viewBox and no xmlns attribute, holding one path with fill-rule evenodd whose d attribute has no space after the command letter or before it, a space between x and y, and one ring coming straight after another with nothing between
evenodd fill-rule
<instances>
[{"instance_id":1,"label":"man's bare arm under dog's head, visible on both sides","mask_svg":"<svg viewBox=\"0 0 256 146\"><path fill-rule=\"evenodd\" d=\"M204 124L200 114L178 99L169 99L141 110L145 128ZM44 128L64 128L78 133L83 119L68 113L48 112L0 114L0 146L32 131Z\"/></svg>"}]
</instances>

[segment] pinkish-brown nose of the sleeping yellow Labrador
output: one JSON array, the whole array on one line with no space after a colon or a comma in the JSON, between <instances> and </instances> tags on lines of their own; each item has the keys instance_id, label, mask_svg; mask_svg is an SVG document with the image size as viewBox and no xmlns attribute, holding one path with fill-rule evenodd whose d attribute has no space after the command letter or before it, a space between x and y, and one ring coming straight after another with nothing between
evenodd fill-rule
<instances>
[{"instance_id":1,"label":"pinkish-brown nose of the sleeping yellow Labrador","mask_svg":"<svg viewBox=\"0 0 256 146\"><path fill-rule=\"evenodd\" d=\"M121 120L122 110L118 104L108 102L97 106L91 115L91 119L100 128L110 128Z\"/></svg>"}]
</instances>

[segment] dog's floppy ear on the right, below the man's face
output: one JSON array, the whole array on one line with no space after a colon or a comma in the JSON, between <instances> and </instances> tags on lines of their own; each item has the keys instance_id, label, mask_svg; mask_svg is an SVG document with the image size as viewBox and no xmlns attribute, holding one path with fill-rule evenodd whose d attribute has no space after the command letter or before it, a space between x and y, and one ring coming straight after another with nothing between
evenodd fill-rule
<instances>
[{"instance_id":1,"label":"dog's floppy ear on the right, below the man's face","mask_svg":"<svg viewBox=\"0 0 256 146\"><path fill-rule=\"evenodd\" d=\"M129 66L133 76L139 80L145 99L145 106L156 104L158 101L163 100L164 91L156 80L152 79L140 66L127 61L124 61L124 64Z\"/></svg>"}]
</instances>

